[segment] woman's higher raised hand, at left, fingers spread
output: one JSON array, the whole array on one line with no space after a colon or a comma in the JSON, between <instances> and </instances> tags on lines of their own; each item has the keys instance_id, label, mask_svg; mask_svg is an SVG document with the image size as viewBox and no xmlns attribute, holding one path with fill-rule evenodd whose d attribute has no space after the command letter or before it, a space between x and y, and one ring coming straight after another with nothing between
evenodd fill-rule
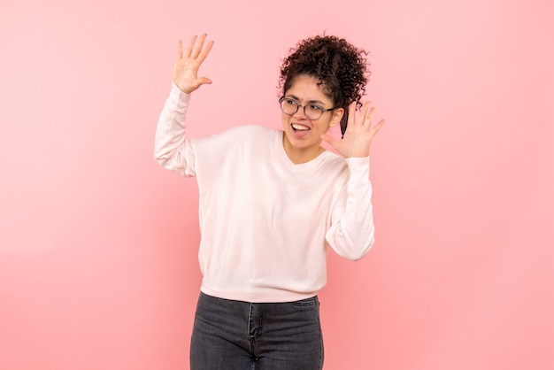
<instances>
[{"instance_id":1,"label":"woman's higher raised hand, at left, fingers spread","mask_svg":"<svg viewBox=\"0 0 554 370\"><path fill-rule=\"evenodd\" d=\"M206 83L212 83L207 77L198 77L198 68L212 50L213 42L204 46L206 34L193 36L187 50L182 50L182 40L177 43L177 59L173 66L173 83L182 92L190 94Z\"/></svg>"}]
</instances>

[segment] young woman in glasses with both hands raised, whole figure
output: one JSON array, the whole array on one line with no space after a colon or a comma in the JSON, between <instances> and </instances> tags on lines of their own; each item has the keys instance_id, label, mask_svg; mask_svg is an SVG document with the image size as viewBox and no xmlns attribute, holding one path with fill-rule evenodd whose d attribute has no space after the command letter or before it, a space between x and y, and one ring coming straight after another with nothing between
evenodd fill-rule
<instances>
[{"instance_id":1,"label":"young woman in glasses with both hands raised, whole figure","mask_svg":"<svg viewBox=\"0 0 554 370\"><path fill-rule=\"evenodd\" d=\"M373 107L359 103L365 51L335 36L299 42L281 66L282 130L191 139L185 116L191 93L211 83L197 73L212 45L206 35L184 51L179 42L156 132L158 162L199 189L203 281L190 368L321 369L327 251L357 260L373 245L369 150L384 120L372 125ZM342 139L327 134L336 125Z\"/></svg>"}]
</instances>

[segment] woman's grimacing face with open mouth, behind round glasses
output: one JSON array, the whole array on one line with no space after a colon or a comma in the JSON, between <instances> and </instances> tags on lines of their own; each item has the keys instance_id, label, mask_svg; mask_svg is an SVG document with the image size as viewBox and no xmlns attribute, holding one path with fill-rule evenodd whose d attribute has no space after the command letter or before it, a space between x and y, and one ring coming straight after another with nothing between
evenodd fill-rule
<instances>
[{"instance_id":1,"label":"woman's grimacing face with open mouth, behind round glasses","mask_svg":"<svg viewBox=\"0 0 554 370\"><path fill-rule=\"evenodd\" d=\"M308 162L323 151L320 136L325 134L329 127L338 124L344 113L342 108L337 108L323 112L319 119L308 119L305 116L304 105L317 105L324 111L334 108L335 103L323 93L318 82L319 80L311 76L300 75L296 77L290 89L285 91L285 102L299 105L298 111L292 115L281 113L285 132L283 147L296 164Z\"/></svg>"}]
</instances>

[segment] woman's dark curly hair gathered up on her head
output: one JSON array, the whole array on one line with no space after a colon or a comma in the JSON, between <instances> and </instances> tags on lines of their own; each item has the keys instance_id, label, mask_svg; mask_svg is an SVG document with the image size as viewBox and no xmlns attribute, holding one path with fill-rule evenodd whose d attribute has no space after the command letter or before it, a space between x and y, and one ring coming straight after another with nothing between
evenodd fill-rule
<instances>
[{"instance_id":1,"label":"woman's dark curly hair gathered up on her head","mask_svg":"<svg viewBox=\"0 0 554 370\"><path fill-rule=\"evenodd\" d=\"M341 120L342 135L346 130L348 106L352 102L361 105L365 84L371 74L367 63L367 52L358 49L346 40L333 35L317 35L304 39L290 49L283 59L279 89L281 94L290 89L300 75L317 80L322 91L337 108L344 109Z\"/></svg>"}]
</instances>

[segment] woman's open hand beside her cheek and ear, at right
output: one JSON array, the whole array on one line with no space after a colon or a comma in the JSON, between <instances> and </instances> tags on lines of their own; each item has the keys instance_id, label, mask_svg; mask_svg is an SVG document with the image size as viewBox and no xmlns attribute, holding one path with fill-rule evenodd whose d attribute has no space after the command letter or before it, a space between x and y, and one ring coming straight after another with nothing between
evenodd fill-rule
<instances>
[{"instance_id":1,"label":"woman's open hand beside her cheek and ear, at right","mask_svg":"<svg viewBox=\"0 0 554 370\"><path fill-rule=\"evenodd\" d=\"M336 140L328 134L321 135L321 139L329 143L344 158L368 157L373 136L385 124L385 119L381 119L379 123L372 126L374 112L375 107L370 108L370 102L365 102L357 117L356 102L350 104L348 126L342 140Z\"/></svg>"}]
</instances>

